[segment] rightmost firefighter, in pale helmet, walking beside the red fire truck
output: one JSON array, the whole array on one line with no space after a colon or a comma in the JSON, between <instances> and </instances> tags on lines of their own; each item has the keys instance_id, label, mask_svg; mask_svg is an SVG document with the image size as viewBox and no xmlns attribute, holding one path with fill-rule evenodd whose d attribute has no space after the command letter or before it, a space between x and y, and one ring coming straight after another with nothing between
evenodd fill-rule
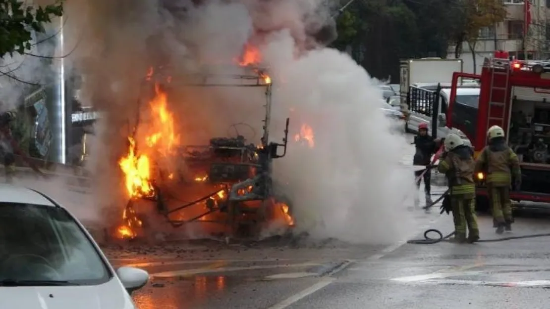
<instances>
[{"instance_id":1,"label":"rightmost firefighter, in pale helmet, walking beside the red fire truck","mask_svg":"<svg viewBox=\"0 0 550 309\"><path fill-rule=\"evenodd\" d=\"M521 185L521 169L518 156L506 144L504 130L492 126L487 130L488 145L483 148L476 161L476 171L483 172L487 183L489 200L492 204L493 223L497 234L511 231L512 217L510 186Z\"/></svg>"}]
</instances>

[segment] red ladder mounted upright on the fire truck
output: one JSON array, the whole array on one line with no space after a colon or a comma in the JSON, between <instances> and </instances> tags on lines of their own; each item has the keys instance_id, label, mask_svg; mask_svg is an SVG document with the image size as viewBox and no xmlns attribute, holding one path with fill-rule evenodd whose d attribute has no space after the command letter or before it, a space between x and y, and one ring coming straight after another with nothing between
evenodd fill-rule
<instances>
[{"instance_id":1,"label":"red ladder mounted upright on the fire truck","mask_svg":"<svg viewBox=\"0 0 550 309\"><path fill-rule=\"evenodd\" d=\"M502 63L502 59L493 59ZM491 70L491 88L489 88L489 111L487 113L487 128L497 125L504 127L505 104L508 100L508 86L510 82L511 68L509 61L507 65L493 65Z\"/></svg>"}]
</instances>

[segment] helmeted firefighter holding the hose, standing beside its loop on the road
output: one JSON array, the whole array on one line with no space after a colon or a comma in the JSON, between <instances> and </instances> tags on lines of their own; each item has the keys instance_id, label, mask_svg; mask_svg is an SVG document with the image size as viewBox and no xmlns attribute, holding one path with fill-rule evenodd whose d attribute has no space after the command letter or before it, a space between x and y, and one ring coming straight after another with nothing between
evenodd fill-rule
<instances>
[{"instance_id":1,"label":"helmeted firefighter holding the hose, standing beside its loop on the road","mask_svg":"<svg viewBox=\"0 0 550 309\"><path fill-rule=\"evenodd\" d=\"M480 239L475 213L474 153L456 134L445 137L445 152L437 169L447 176L450 205L453 210L455 238L458 243L475 243ZM466 227L468 237L466 238Z\"/></svg>"}]
</instances>

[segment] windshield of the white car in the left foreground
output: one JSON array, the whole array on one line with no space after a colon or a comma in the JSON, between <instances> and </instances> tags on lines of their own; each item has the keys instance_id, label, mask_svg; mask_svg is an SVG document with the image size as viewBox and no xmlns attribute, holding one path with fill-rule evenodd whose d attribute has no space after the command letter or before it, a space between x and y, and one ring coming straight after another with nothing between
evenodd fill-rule
<instances>
[{"instance_id":1,"label":"windshield of the white car in the left foreground","mask_svg":"<svg viewBox=\"0 0 550 309\"><path fill-rule=\"evenodd\" d=\"M0 203L0 286L95 285L112 276L66 210Z\"/></svg>"}]
</instances>

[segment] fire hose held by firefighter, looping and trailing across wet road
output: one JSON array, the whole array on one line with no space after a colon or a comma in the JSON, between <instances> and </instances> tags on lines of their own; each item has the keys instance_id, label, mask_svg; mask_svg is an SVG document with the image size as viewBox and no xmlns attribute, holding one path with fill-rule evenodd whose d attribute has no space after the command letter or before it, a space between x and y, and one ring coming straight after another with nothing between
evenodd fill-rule
<instances>
[{"instance_id":1,"label":"fire hose held by firefighter, looping and trailing across wet road","mask_svg":"<svg viewBox=\"0 0 550 309\"><path fill-rule=\"evenodd\" d=\"M443 153L443 147L441 147L437 151L437 153L433 156L433 160L431 162L431 165L427 166L425 168L425 170L423 170L421 175L416 177L415 181L419 181L424 176L425 173L431 172L431 169L433 168L434 163L439 159L439 156L441 156L442 153ZM426 205L425 207L423 207L423 209L425 209L425 210L431 209L431 207L433 207L434 205L439 203L439 201L443 200L448 195L449 195L449 189L447 189L447 191L445 191L441 196L439 196L439 198L437 200L433 201L430 205ZM443 214L444 211L445 211L444 206L442 206L441 214ZM448 213L449 213L449 211L447 211L447 214ZM437 238L431 238L429 236L429 234L431 234L431 233L437 234L438 237ZM424 239L410 239L410 240L407 241L407 243L408 244L415 244L415 245L433 245L433 244L437 244L437 243L441 243L441 242L450 242L450 238L454 234L456 234L456 231L453 231L452 233L444 235L438 229L431 228L431 229L427 229L424 232L424 234L423 234ZM476 242L477 243L497 243L498 241L514 240L514 239L525 239L525 238L537 238L537 237L550 237L550 233L529 234L529 235L521 235L521 236L509 236L509 237L501 237L501 238L496 238L496 239L478 239Z\"/></svg>"}]
</instances>

